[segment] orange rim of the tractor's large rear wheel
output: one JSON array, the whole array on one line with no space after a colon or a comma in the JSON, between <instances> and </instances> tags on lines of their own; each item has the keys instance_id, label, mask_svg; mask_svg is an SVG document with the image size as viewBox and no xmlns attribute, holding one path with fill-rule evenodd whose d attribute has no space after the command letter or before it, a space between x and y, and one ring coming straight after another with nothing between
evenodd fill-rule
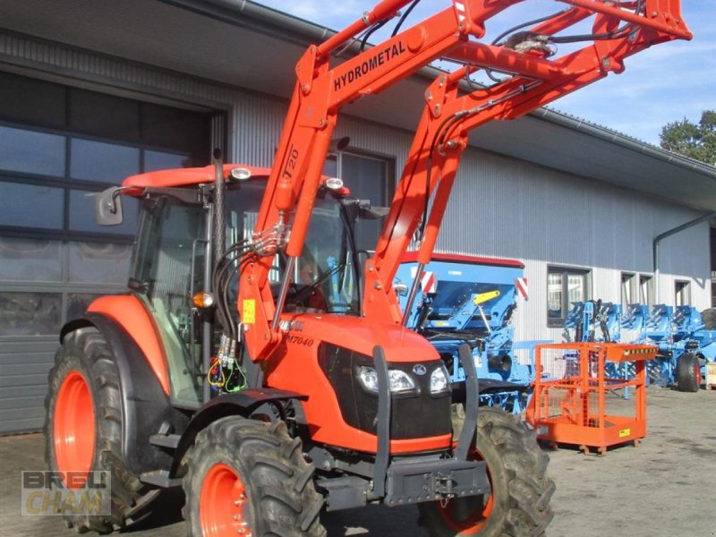
<instances>
[{"instance_id":1,"label":"orange rim of the tractor's large rear wheel","mask_svg":"<svg viewBox=\"0 0 716 537\"><path fill-rule=\"evenodd\" d=\"M87 379L70 371L57 392L53 439L60 472L90 472L95 456L95 406ZM79 485L70 488L79 487Z\"/></svg>"}]
</instances>

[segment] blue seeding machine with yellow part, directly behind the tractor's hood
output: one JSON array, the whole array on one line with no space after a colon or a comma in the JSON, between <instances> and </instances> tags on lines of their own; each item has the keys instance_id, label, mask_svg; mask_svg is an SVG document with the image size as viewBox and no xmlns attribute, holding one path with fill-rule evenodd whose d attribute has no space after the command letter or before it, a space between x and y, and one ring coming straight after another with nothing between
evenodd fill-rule
<instances>
[{"instance_id":1,"label":"blue seeding machine with yellow part, directly behind the tractor's hood","mask_svg":"<svg viewBox=\"0 0 716 537\"><path fill-rule=\"evenodd\" d=\"M438 350L456 389L465 385L458 348L470 345L480 379L480 404L512 413L524 411L534 380L533 348L543 342L515 342L512 315L517 280L524 282L524 265L436 253L421 278L421 300L409 313L407 326L427 337ZM396 274L396 289L409 287L417 261L409 253ZM402 285L401 285L402 284ZM400 295L405 310L406 293ZM530 362L515 351L528 349Z\"/></svg>"}]
</instances>

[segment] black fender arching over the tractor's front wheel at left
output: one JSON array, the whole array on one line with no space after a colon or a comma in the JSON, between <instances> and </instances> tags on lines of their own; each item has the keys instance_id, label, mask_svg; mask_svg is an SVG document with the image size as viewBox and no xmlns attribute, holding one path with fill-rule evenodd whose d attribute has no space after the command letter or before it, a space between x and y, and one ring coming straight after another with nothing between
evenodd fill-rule
<instances>
[{"instance_id":1,"label":"black fender arching over the tractor's front wheel at left","mask_svg":"<svg viewBox=\"0 0 716 537\"><path fill-rule=\"evenodd\" d=\"M226 416L248 417L260 410L262 405L286 403L287 401L305 401L308 397L293 391L274 388L249 388L236 394L216 396L203 405L192 417L192 421L184 430L182 439L175 451L175 462L170 475L175 477L179 465L189 448L193 446L196 436L211 423ZM282 405L276 405L279 409ZM283 418L284 416L280 416Z\"/></svg>"}]
</instances>

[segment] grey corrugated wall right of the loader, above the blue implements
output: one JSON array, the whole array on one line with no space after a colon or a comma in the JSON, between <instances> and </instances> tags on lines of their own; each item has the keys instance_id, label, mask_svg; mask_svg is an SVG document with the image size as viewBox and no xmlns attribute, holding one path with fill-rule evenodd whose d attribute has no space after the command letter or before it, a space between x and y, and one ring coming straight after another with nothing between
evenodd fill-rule
<instances>
[{"instance_id":1,"label":"grey corrugated wall right of the loader, above the blue implements","mask_svg":"<svg viewBox=\"0 0 716 537\"><path fill-rule=\"evenodd\" d=\"M664 200L479 150L463 160L439 247L525 263L530 299L516 315L519 339L561 340L547 328L548 264L592 269L592 297L620 301L621 272L652 275L652 240L700 213ZM691 282L692 303L710 305L709 226L661 244L661 292Z\"/></svg>"}]
</instances>

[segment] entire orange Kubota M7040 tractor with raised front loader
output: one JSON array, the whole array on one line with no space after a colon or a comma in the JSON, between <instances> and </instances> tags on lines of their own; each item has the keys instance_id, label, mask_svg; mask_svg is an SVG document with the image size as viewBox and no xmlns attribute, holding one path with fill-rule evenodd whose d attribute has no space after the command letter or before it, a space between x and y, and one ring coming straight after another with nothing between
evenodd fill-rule
<instances>
[{"instance_id":1,"label":"entire orange Kubota M7040 tractor with raised front loader","mask_svg":"<svg viewBox=\"0 0 716 537\"><path fill-rule=\"evenodd\" d=\"M393 37L332 65L337 48L415 4L385 0L300 59L270 170L215 155L217 166L136 175L98 197L106 224L121 221L122 196L140 199L141 223L129 292L64 326L50 373L50 467L112 475L111 514L69 524L122 528L183 486L192 536L323 535L322 509L371 502L418 504L432 535L544 532L554 483L533 432L478 412L466 345L465 386L450 385L432 345L405 328L393 278L413 235L420 269L430 260L471 129L690 34L678 0L564 0L482 43L485 22L521 1L454 0L403 31L401 17ZM425 93L361 267L354 222L376 211L321 175L338 112L438 58L458 67ZM493 83L465 81L481 70Z\"/></svg>"}]
</instances>

